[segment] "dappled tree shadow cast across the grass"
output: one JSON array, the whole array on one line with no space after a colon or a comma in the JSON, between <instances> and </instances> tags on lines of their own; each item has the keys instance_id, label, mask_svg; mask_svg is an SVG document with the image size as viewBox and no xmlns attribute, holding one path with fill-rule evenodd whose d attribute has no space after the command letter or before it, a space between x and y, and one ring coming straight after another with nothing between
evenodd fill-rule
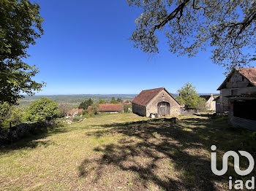
<instances>
[{"instance_id":1,"label":"dappled tree shadow cast across the grass","mask_svg":"<svg viewBox=\"0 0 256 191\"><path fill-rule=\"evenodd\" d=\"M228 176L239 176L232 170L225 176L215 176L211 172L211 145L217 145L218 153L242 149L255 157L255 139L246 136L250 132L227 128L227 119L189 118L178 122L160 119L100 126L105 129L87 133L87 136L99 138L116 133L125 136L118 144L95 147L94 151L102 153L101 157L93 161L85 159L80 164L80 176L96 172L94 182L104 176L102 169L113 165L121 171L138 174L141 181L132 181L140 184L140 189L148 188L148 183L153 182L164 190L226 190L226 187L217 189L215 182L227 184ZM170 161L164 163L165 160ZM92 163L94 168L88 168ZM218 160L218 167L221 166ZM241 167L246 166L246 162L241 163Z\"/></svg>"}]
</instances>

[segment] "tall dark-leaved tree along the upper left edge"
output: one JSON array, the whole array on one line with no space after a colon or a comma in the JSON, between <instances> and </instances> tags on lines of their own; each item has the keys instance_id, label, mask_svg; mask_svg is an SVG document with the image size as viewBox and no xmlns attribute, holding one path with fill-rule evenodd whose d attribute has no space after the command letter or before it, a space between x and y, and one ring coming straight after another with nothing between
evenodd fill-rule
<instances>
[{"instance_id":1,"label":"tall dark-leaved tree along the upper left edge","mask_svg":"<svg viewBox=\"0 0 256 191\"><path fill-rule=\"evenodd\" d=\"M17 104L20 92L34 95L45 85L32 80L38 69L22 61L43 34L43 19L39 5L29 0L0 1L0 17L0 102Z\"/></svg>"}]
</instances>

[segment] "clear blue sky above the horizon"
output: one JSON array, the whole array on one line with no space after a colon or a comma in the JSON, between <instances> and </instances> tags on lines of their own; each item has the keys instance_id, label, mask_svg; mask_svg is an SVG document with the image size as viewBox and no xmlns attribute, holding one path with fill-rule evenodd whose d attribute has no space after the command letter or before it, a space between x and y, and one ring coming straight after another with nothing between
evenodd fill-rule
<instances>
[{"instance_id":1,"label":"clear blue sky above the horizon","mask_svg":"<svg viewBox=\"0 0 256 191\"><path fill-rule=\"evenodd\" d=\"M41 7L44 35L29 48L27 63L35 64L37 95L139 93L166 87L171 93L192 82L199 93L217 93L225 79L210 52L195 58L176 57L165 42L153 58L128 40L140 10L125 0L36 1Z\"/></svg>"}]
</instances>

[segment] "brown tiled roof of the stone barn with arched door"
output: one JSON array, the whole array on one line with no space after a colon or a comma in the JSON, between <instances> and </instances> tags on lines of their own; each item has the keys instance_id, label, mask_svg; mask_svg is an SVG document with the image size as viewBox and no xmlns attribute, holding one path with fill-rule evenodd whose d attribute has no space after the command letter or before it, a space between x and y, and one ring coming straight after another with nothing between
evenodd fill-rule
<instances>
[{"instance_id":1,"label":"brown tiled roof of the stone barn with arched door","mask_svg":"<svg viewBox=\"0 0 256 191\"><path fill-rule=\"evenodd\" d=\"M140 106L146 106L149 101L151 101L154 96L159 93L159 91L163 90L164 87L159 87L151 90L142 90L139 95L135 97L135 99L132 101L134 104L138 104Z\"/></svg>"}]
</instances>

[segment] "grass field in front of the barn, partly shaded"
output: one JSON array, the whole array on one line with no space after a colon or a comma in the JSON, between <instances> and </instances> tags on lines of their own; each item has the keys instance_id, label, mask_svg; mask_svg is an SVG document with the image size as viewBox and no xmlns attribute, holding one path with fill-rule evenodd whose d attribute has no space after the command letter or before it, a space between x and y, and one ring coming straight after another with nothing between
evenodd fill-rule
<instances>
[{"instance_id":1,"label":"grass field in front of the barn, partly shaded","mask_svg":"<svg viewBox=\"0 0 256 191\"><path fill-rule=\"evenodd\" d=\"M211 145L219 168L227 150L256 158L255 133L229 128L225 118L145 120L99 115L3 147L0 190L228 190L228 176L241 177L232 159L225 176L211 172Z\"/></svg>"}]
</instances>

